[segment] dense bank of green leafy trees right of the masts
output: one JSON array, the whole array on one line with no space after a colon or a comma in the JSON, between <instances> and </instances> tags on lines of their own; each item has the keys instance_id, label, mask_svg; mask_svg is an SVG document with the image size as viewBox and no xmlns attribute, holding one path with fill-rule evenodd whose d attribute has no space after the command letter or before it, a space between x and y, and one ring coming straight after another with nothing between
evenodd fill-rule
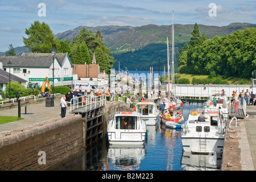
<instances>
[{"instance_id":1,"label":"dense bank of green leafy trees right of the masts","mask_svg":"<svg viewBox=\"0 0 256 182\"><path fill-rule=\"evenodd\" d=\"M255 69L256 28L207 39L195 24L189 44L180 48L180 73L250 78Z\"/></svg>"}]
</instances>

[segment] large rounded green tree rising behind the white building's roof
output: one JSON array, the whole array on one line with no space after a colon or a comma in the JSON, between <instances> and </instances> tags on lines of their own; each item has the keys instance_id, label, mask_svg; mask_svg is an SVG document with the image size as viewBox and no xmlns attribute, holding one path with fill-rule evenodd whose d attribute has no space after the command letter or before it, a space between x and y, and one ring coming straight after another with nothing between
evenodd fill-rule
<instances>
[{"instance_id":1,"label":"large rounded green tree rising behind the white building's roof","mask_svg":"<svg viewBox=\"0 0 256 182\"><path fill-rule=\"evenodd\" d=\"M23 37L25 47L31 52L51 52L52 47L56 46L56 39L53 39L53 33L48 24L35 21L34 24L25 31L28 38Z\"/></svg>"}]
</instances>

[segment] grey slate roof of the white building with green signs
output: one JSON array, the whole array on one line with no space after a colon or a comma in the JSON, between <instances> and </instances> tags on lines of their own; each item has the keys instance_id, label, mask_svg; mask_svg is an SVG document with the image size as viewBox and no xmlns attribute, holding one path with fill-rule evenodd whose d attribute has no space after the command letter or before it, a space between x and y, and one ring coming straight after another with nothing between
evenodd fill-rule
<instances>
[{"instance_id":1,"label":"grey slate roof of the white building with green signs","mask_svg":"<svg viewBox=\"0 0 256 182\"><path fill-rule=\"evenodd\" d=\"M56 60L60 65L63 64L67 53L56 53ZM49 68L52 64L52 53L23 53L22 56L0 56L3 67L43 67Z\"/></svg>"}]
</instances>

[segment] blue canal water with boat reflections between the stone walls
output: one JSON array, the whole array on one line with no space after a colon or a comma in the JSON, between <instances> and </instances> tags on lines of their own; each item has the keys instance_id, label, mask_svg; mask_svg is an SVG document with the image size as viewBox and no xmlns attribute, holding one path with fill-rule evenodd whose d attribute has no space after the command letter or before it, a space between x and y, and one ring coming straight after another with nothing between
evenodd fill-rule
<instances>
[{"instance_id":1,"label":"blue canal water with boat reflections between the stone walls","mask_svg":"<svg viewBox=\"0 0 256 182\"><path fill-rule=\"evenodd\" d=\"M184 121L189 110L201 108L202 103L184 103ZM94 142L72 160L53 170L82 171L208 171L220 170L221 156L191 155L183 152L181 131L162 126L147 126L144 147L110 148L104 140Z\"/></svg>"}]
</instances>

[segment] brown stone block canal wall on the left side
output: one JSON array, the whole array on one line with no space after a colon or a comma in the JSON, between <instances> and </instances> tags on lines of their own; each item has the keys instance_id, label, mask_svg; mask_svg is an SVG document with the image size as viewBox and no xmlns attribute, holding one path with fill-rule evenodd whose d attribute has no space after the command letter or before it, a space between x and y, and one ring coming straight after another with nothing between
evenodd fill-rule
<instances>
[{"instance_id":1,"label":"brown stone block canal wall on the left side","mask_svg":"<svg viewBox=\"0 0 256 182\"><path fill-rule=\"evenodd\" d=\"M30 126L1 137L0 170L47 170L76 154L83 148L85 121L81 115L76 115L45 121L42 126Z\"/></svg>"}]
</instances>

